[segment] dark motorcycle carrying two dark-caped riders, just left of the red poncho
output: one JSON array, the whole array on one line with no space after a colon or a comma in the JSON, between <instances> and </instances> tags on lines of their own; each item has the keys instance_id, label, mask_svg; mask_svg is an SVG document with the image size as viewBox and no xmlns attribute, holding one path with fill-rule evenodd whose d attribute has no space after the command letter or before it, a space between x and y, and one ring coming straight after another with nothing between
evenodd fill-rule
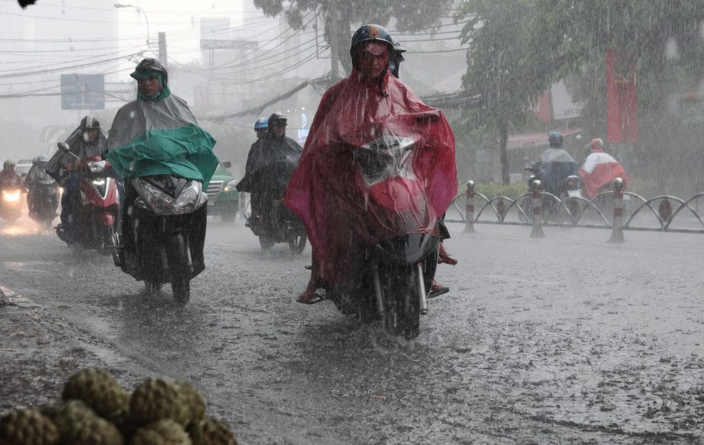
<instances>
[{"instance_id":1,"label":"dark motorcycle carrying two dark-caped riders, just left of the red poncho","mask_svg":"<svg viewBox=\"0 0 704 445\"><path fill-rule=\"evenodd\" d=\"M266 173L254 175L255 184L262 184L253 193L252 200L260 202L260 214L249 215L245 227L259 237L264 250L274 244L287 243L294 253L301 253L306 247L306 227L300 219L283 205L281 196L291 174L298 163L298 156L287 156L266 165ZM258 196L257 196L258 195Z\"/></svg>"}]
</instances>

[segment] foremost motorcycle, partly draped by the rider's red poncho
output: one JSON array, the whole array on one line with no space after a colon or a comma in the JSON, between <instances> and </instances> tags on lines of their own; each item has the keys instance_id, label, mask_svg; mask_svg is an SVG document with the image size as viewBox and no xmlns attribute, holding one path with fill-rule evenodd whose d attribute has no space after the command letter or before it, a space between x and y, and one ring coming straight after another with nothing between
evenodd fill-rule
<instances>
[{"instance_id":1,"label":"foremost motorcycle, partly draped by the rider's red poncho","mask_svg":"<svg viewBox=\"0 0 704 445\"><path fill-rule=\"evenodd\" d=\"M424 182L413 169L416 142L411 137L384 136L354 148L365 199L377 203L388 217L375 221L396 235L361 251L349 264L348 278L325 287L325 298L341 313L357 314L362 322L383 320L386 330L406 339L420 334L420 315L427 313L427 290L440 246L437 217L424 198ZM396 196L391 198L389 189ZM418 222L434 230L420 232Z\"/></svg>"}]
</instances>

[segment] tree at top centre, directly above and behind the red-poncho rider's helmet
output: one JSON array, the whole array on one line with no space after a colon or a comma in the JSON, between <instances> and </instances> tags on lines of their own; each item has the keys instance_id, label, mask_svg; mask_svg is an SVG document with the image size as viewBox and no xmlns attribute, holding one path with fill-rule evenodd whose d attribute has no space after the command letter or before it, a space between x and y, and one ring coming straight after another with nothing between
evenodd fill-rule
<instances>
[{"instance_id":1,"label":"tree at top centre, directly above and behind the red-poncho rider's helmet","mask_svg":"<svg viewBox=\"0 0 704 445\"><path fill-rule=\"evenodd\" d=\"M353 24L386 26L391 18L396 18L398 31L427 30L440 24L440 19L448 15L454 0L291 0L286 3L289 7L284 10L284 0L254 0L254 6L266 15L284 13L294 30L306 27L313 17L320 18L332 58L337 59L349 73L352 69L349 44ZM332 67L332 75L339 77L335 72L337 63L332 63Z\"/></svg>"}]
</instances>

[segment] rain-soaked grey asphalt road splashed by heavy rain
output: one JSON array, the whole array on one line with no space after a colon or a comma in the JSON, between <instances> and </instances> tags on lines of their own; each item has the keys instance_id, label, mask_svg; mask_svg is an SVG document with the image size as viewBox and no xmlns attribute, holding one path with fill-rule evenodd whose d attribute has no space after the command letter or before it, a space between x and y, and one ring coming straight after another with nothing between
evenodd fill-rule
<instances>
[{"instance_id":1,"label":"rain-soaked grey asphalt road splashed by heavy rain","mask_svg":"<svg viewBox=\"0 0 704 445\"><path fill-rule=\"evenodd\" d=\"M451 225L460 264L414 341L295 302L302 256L208 225L191 302L0 222L0 284L193 381L244 444L700 443L704 236Z\"/></svg>"}]
</instances>

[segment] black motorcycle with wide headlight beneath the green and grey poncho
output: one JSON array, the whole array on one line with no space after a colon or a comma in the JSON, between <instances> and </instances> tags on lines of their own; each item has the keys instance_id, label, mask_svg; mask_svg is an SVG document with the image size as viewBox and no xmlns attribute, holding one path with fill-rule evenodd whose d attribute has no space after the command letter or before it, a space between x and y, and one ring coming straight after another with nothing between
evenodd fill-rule
<instances>
[{"instance_id":1,"label":"black motorcycle with wide headlight beneath the green and grey poncho","mask_svg":"<svg viewBox=\"0 0 704 445\"><path fill-rule=\"evenodd\" d=\"M153 175L127 182L122 235L113 234L115 265L144 281L147 293L170 283L174 300L188 303L190 281L205 269L207 203L199 181Z\"/></svg>"}]
</instances>

